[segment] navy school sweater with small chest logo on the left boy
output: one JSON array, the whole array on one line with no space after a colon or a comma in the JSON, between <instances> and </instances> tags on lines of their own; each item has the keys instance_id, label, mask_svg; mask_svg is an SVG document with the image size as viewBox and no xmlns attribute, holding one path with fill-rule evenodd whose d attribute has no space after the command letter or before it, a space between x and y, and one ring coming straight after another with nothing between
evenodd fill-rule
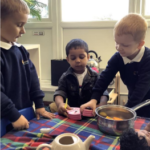
<instances>
[{"instance_id":1,"label":"navy school sweater with small chest logo on the left boy","mask_svg":"<svg viewBox=\"0 0 150 150\"><path fill-rule=\"evenodd\" d=\"M29 53L21 46L9 50L1 48L1 117L11 122L20 117L18 110L42 108L44 93L40 90L35 67Z\"/></svg>"}]
</instances>

